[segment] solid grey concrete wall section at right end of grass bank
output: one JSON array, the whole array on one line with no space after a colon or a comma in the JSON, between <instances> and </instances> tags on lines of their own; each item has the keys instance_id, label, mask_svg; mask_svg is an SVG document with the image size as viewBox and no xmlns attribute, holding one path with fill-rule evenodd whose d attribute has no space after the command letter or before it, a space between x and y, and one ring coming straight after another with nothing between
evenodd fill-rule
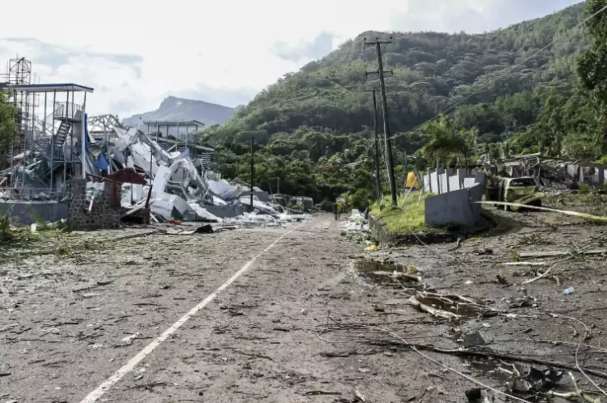
<instances>
[{"instance_id":1,"label":"solid grey concrete wall section at right end of grass bank","mask_svg":"<svg viewBox=\"0 0 607 403\"><path fill-rule=\"evenodd\" d=\"M425 222L429 226L475 225L481 221L483 183L476 183L472 188L435 195L424 200Z\"/></svg>"}]
</instances>

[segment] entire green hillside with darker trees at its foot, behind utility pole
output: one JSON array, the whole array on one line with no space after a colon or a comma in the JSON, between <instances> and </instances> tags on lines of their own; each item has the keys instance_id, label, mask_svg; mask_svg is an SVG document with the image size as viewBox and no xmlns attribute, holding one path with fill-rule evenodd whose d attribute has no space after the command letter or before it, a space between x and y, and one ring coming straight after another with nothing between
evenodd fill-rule
<instances>
[{"instance_id":1,"label":"entire green hillside with darker trees at its foot, behind utility pole","mask_svg":"<svg viewBox=\"0 0 607 403\"><path fill-rule=\"evenodd\" d=\"M578 25L606 6L589 0L480 35L365 32L285 75L201 141L217 147L215 169L226 177L248 177L254 138L257 185L276 191L279 178L281 192L316 199L348 192L364 205L374 195L374 154L371 97L361 89L372 83L365 70L377 69L364 38L393 36L384 60L393 69L387 85L397 177L436 160L463 166L519 152L597 159L607 151L600 109L607 12ZM427 123L445 111L448 117Z\"/></svg>"}]
</instances>

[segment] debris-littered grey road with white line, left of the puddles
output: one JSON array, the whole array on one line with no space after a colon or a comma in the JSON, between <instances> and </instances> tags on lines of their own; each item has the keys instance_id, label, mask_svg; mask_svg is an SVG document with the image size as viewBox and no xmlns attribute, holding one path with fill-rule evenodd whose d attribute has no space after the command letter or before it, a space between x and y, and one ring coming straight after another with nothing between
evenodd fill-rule
<instances>
[{"instance_id":1,"label":"debris-littered grey road with white line, left of the puddles","mask_svg":"<svg viewBox=\"0 0 607 403\"><path fill-rule=\"evenodd\" d=\"M339 397L319 391L351 393L362 373L344 381L318 355L331 345L316 327L331 310L358 310L352 300L367 293L342 283L361 246L332 218L113 241L116 232L100 245L87 234L64 255L5 263L2 399L309 402Z\"/></svg>"}]
</instances>

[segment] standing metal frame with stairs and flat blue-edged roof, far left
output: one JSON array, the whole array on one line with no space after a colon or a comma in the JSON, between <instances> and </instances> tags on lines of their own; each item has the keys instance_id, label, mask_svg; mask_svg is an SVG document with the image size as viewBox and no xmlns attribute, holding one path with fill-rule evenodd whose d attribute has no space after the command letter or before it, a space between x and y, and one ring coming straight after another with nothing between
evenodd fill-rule
<instances>
[{"instance_id":1,"label":"standing metal frame with stairs and flat blue-edged roof, far left","mask_svg":"<svg viewBox=\"0 0 607 403\"><path fill-rule=\"evenodd\" d=\"M0 168L0 177L6 178L0 178L2 197L58 199L67 177L86 175L86 93L93 89L32 83L32 63L24 57L8 61L0 88L17 110L18 135L5 156L8 169ZM76 93L82 94L81 103L75 103Z\"/></svg>"}]
</instances>

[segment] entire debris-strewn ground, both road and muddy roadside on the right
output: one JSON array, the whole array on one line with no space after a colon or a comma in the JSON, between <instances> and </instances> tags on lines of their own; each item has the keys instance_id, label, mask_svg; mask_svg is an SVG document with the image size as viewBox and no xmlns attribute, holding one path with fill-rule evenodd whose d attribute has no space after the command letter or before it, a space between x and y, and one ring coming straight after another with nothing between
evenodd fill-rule
<instances>
[{"instance_id":1,"label":"entire debris-strewn ground, both road and muddy roadside on the right","mask_svg":"<svg viewBox=\"0 0 607 403\"><path fill-rule=\"evenodd\" d=\"M521 283L564 258L525 252L583 248L607 228L556 213L497 214L510 229L459 246L368 252L321 214L215 234L60 234L14 249L0 263L0 402L465 402L475 382L506 390L498 367L512 366L489 357L575 369L576 350L604 388L605 254ZM362 273L365 259L412 266L421 281ZM496 314L432 317L409 303L422 291ZM484 340L470 349L476 356L429 351L461 348L475 332ZM573 390L566 376L560 384Z\"/></svg>"}]
</instances>

